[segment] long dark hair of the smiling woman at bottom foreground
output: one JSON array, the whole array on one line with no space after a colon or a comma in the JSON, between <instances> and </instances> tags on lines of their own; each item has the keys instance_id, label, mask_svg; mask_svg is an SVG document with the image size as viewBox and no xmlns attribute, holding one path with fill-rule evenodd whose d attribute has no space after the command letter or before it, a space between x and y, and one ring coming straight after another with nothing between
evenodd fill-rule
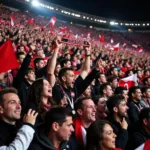
<instances>
[{"instance_id":1,"label":"long dark hair of the smiling woman at bottom foreground","mask_svg":"<svg viewBox=\"0 0 150 150\"><path fill-rule=\"evenodd\" d=\"M110 123L105 120L96 120L87 129L86 150L101 150L100 143L103 140L103 132L106 124Z\"/></svg>"}]
</instances>

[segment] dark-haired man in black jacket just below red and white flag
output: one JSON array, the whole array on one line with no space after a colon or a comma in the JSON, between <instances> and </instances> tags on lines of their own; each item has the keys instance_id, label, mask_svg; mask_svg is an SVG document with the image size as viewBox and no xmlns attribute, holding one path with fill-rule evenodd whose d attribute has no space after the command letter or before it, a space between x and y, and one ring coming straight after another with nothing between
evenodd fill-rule
<instances>
[{"instance_id":1,"label":"dark-haired man in black jacket just below red and white flag","mask_svg":"<svg viewBox=\"0 0 150 150\"><path fill-rule=\"evenodd\" d=\"M129 90L129 101L128 101L128 116L131 123L135 123L139 119L140 111L145 107L142 100L142 92L140 87L134 86Z\"/></svg>"}]
</instances>

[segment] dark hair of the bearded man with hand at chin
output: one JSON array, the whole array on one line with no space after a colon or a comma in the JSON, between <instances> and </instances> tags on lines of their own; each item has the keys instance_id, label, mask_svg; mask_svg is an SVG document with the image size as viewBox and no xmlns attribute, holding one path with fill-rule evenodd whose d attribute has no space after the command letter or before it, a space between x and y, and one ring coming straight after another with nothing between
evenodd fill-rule
<instances>
[{"instance_id":1,"label":"dark hair of the bearded man with hand at chin","mask_svg":"<svg viewBox=\"0 0 150 150\"><path fill-rule=\"evenodd\" d=\"M114 107L118 108L121 101L124 101L124 97L122 95L118 94L109 97L106 102L109 113L113 114L114 113L113 108Z\"/></svg>"}]
</instances>

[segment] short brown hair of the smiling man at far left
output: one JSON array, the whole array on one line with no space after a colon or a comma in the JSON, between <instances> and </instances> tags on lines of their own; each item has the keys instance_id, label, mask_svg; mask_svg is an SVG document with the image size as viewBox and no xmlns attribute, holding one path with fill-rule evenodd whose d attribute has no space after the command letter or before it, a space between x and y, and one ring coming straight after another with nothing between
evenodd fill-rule
<instances>
[{"instance_id":1,"label":"short brown hair of the smiling man at far left","mask_svg":"<svg viewBox=\"0 0 150 150\"><path fill-rule=\"evenodd\" d=\"M17 89L13 88L13 87L10 87L10 88L5 88L5 89L2 89L0 91L0 105L3 105L4 104L4 95L5 94L8 94L8 93L14 93L14 94L18 94L18 91Z\"/></svg>"}]
</instances>

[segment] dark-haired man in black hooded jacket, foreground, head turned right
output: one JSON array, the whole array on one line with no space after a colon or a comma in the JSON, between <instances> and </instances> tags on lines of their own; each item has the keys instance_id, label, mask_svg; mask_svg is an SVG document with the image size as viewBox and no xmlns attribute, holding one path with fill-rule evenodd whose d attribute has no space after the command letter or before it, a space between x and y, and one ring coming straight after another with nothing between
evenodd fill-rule
<instances>
[{"instance_id":1,"label":"dark-haired man in black hooded jacket, foreground, head turned right","mask_svg":"<svg viewBox=\"0 0 150 150\"><path fill-rule=\"evenodd\" d=\"M78 150L70 140L73 131L72 113L63 107L52 108L46 114L44 125L38 127L29 150Z\"/></svg>"}]
</instances>

